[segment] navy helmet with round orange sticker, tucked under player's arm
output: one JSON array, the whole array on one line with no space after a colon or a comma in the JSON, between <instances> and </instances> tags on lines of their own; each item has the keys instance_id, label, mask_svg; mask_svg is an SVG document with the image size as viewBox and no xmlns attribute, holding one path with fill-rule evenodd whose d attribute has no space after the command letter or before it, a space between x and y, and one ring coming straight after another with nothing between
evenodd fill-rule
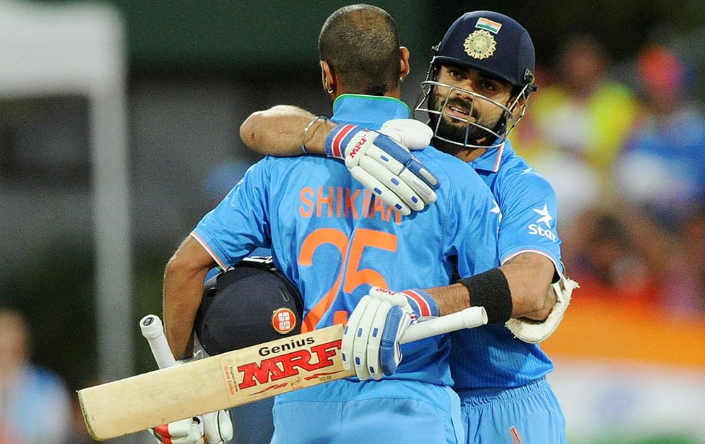
<instances>
[{"instance_id":1,"label":"navy helmet with round orange sticker, tucked under player's arm","mask_svg":"<svg viewBox=\"0 0 705 444\"><path fill-rule=\"evenodd\" d=\"M302 297L270 257L246 258L204 285L193 331L209 355L301 331Z\"/></svg>"}]
</instances>

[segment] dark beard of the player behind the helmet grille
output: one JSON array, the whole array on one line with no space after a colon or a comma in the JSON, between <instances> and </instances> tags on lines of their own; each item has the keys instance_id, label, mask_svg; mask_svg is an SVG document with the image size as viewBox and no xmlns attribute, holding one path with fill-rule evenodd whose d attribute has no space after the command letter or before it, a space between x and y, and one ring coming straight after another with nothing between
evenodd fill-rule
<instances>
[{"instance_id":1,"label":"dark beard of the player behind the helmet grille","mask_svg":"<svg viewBox=\"0 0 705 444\"><path fill-rule=\"evenodd\" d=\"M477 108L472 106L472 101L455 97L448 99L448 103L445 103L446 97L439 97L438 94L431 94L429 100L432 102L432 109L441 113L440 115L431 113L429 116L431 118L432 128L436 128L437 119L441 118L441 123L438 125L438 130L436 130L436 135L447 140L453 140L453 142L458 142L459 144L480 144L480 142L485 142L488 137L493 138L492 141L494 141L494 135L486 128L495 128L498 119L492 122L483 120ZM484 128L446 115L445 111L450 108L463 109L466 111L470 110L470 115L466 116L465 119L468 122L475 123Z\"/></svg>"}]
</instances>

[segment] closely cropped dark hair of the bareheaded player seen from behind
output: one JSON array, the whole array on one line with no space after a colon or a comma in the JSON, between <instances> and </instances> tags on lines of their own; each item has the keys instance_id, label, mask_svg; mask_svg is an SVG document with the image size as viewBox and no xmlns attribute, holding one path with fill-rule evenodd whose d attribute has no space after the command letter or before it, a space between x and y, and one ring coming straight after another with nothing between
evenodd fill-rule
<instances>
[{"instance_id":1,"label":"closely cropped dark hair of the bareheaded player seen from behind","mask_svg":"<svg viewBox=\"0 0 705 444\"><path fill-rule=\"evenodd\" d=\"M350 92L381 96L399 84L399 35L384 9L366 4L338 9L321 28L318 51Z\"/></svg>"}]
</instances>

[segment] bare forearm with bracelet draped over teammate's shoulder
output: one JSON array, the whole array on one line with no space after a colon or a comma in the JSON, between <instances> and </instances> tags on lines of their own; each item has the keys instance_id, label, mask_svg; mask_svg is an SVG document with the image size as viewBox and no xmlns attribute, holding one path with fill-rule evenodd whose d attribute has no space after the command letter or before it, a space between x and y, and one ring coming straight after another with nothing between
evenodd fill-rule
<instances>
[{"instance_id":1,"label":"bare forearm with bracelet draped over teammate's shoulder","mask_svg":"<svg viewBox=\"0 0 705 444\"><path fill-rule=\"evenodd\" d=\"M250 114L240 125L240 138L255 151L270 156L303 154L304 131L316 116L297 106L277 105ZM334 123L320 119L306 132L306 150L325 154L326 136Z\"/></svg>"}]
</instances>

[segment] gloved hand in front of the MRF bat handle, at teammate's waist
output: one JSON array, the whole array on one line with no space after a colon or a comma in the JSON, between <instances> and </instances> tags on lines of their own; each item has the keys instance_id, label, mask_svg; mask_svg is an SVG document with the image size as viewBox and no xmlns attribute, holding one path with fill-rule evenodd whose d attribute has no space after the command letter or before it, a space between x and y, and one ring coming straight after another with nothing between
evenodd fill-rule
<instances>
[{"instance_id":1,"label":"gloved hand in front of the MRF bat handle, at teammate's waist","mask_svg":"<svg viewBox=\"0 0 705 444\"><path fill-rule=\"evenodd\" d=\"M393 374L402 359L400 340L412 323L438 316L436 301L420 289L372 287L350 314L341 351L343 367L361 380Z\"/></svg>"}]
</instances>

